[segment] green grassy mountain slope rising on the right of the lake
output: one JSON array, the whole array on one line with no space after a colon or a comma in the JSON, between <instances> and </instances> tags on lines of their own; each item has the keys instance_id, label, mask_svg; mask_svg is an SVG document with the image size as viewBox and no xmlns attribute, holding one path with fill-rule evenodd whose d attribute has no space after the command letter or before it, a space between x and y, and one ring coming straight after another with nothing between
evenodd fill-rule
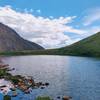
<instances>
[{"instance_id":1,"label":"green grassy mountain slope rising on the right of the lake","mask_svg":"<svg viewBox=\"0 0 100 100\"><path fill-rule=\"evenodd\" d=\"M60 48L59 54L100 57L100 32L70 46Z\"/></svg>"}]
</instances>

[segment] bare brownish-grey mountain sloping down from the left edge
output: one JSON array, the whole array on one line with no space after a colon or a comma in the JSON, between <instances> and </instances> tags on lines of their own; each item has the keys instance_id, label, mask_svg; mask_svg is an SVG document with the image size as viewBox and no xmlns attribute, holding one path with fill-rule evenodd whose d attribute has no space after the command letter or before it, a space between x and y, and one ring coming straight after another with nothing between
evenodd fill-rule
<instances>
[{"instance_id":1,"label":"bare brownish-grey mountain sloping down from the left edge","mask_svg":"<svg viewBox=\"0 0 100 100\"><path fill-rule=\"evenodd\" d=\"M43 49L40 45L23 39L13 29L0 23L0 52Z\"/></svg>"}]
</instances>

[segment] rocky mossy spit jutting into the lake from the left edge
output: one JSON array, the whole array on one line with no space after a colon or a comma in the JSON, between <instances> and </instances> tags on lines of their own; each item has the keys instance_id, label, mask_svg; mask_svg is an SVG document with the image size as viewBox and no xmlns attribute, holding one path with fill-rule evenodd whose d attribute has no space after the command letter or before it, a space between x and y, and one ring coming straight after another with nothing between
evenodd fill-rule
<instances>
[{"instance_id":1,"label":"rocky mossy spit jutting into the lake from the left edge","mask_svg":"<svg viewBox=\"0 0 100 100\"><path fill-rule=\"evenodd\" d=\"M21 90L25 94L29 94L32 89L41 88L44 89L49 85L49 83L35 82L32 76L21 76L21 75L12 75L10 71L15 70L14 68L10 69L9 65L0 64L0 80L3 82L10 83L8 86L0 85L0 92L4 95L7 95L7 92L12 91L12 96L16 97L18 95L17 89ZM8 89L9 88L9 89Z\"/></svg>"}]
</instances>

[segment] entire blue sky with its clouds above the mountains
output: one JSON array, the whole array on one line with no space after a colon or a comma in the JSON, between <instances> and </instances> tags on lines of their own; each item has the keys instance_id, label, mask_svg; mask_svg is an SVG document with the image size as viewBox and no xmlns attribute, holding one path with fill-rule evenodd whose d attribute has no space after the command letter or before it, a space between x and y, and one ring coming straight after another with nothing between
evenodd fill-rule
<instances>
[{"instance_id":1,"label":"entire blue sky with its clouds above the mountains","mask_svg":"<svg viewBox=\"0 0 100 100\"><path fill-rule=\"evenodd\" d=\"M0 0L0 22L45 48L100 31L100 0Z\"/></svg>"}]
</instances>

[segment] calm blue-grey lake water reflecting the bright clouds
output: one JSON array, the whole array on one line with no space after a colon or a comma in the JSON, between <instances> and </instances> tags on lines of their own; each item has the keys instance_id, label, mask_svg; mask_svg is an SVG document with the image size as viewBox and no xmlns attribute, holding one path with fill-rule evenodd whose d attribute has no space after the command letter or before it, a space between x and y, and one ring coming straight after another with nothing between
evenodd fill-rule
<instances>
[{"instance_id":1,"label":"calm blue-grey lake water reflecting the bright clouds","mask_svg":"<svg viewBox=\"0 0 100 100\"><path fill-rule=\"evenodd\" d=\"M32 100L33 95L49 95L53 98L67 95L73 100L100 100L100 59L44 55L1 59L15 68L13 74L33 76L36 81L50 83L43 90L33 90L27 99L22 100Z\"/></svg>"}]
</instances>

